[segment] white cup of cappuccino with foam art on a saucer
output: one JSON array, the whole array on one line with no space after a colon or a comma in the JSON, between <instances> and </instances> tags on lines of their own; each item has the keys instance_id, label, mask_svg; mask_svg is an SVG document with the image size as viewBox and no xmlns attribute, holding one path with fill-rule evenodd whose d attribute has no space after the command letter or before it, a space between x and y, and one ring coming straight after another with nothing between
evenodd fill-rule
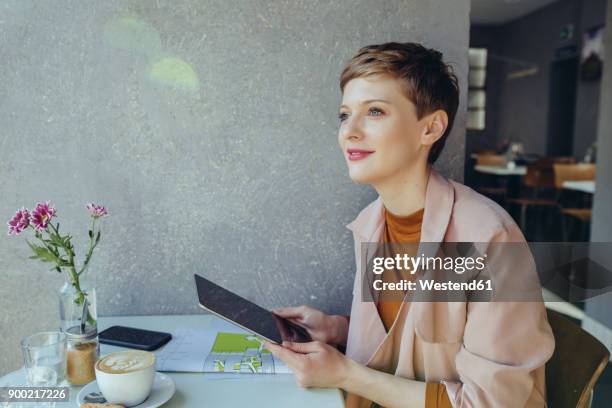
<instances>
[{"instance_id":1,"label":"white cup of cappuccino with foam art on a saucer","mask_svg":"<svg viewBox=\"0 0 612 408\"><path fill-rule=\"evenodd\" d=\"M106 401L133 407L151 393L155 379L155 354L118 351L100 358L95 365L98 388Z\"/></svg>"}]
</instances>

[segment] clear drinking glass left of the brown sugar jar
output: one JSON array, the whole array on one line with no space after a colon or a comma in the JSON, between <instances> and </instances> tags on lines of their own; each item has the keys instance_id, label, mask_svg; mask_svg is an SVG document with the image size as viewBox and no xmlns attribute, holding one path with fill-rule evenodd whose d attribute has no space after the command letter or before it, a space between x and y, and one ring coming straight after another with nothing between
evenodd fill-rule
<instances>
[{"instance_id":1,"label":"clear drinking glass left of the brown sugar jar","mask_svg":"<svg viewBox=\"0 0 612 408\"><path fill-rule=\"evenodd\" d=\"M36 333L21 340L26 380L30 387L63 386L66 378L66 335Z\"/></svg>"}]
</instances>

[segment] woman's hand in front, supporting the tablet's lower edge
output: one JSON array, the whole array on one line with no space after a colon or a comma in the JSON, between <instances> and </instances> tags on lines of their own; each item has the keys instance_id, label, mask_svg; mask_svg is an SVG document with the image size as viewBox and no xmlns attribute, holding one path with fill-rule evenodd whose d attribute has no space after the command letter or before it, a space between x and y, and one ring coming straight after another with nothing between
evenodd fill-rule
<instances>
[{"instance_id":1,"label":"woman's hand in front, supporting the tablet's lower edge","mask_svg":"<svg viewBox=\"0 0 612 408\"><path fill-rule=\"evenodd\" d=\"M275 357L283 360L295 374L302 387L341 388L349 370L349 359L332 346L321 341L283 345L266 342Z\"/></svg>"}]
</instances>

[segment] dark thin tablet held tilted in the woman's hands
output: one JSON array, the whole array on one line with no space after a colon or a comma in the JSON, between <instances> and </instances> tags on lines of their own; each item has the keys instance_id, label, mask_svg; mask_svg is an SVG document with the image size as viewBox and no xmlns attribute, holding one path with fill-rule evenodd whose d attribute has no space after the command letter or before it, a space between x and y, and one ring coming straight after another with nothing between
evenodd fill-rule
<instances>
[{"instance_id":1,"label":"dark thin tablet held tilted in the woman's hands","mask_svg":"<svg viewBox=\"0 0 612 408\"><path fill-rule=\"evenodd\" d=\"M312 341L301 326L275 315L221 286L194 274L200 306L209 312L253 332L266 340L280 344Z\"/></svg>"}]
</instances>

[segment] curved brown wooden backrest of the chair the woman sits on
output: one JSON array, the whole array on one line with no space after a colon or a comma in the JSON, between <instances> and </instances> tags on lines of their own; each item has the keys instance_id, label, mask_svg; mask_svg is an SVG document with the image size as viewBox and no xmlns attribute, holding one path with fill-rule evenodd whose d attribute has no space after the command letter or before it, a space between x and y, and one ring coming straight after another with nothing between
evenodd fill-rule
<instances>
[{"instance_id":1,"label":"curved brown wooden backrest of the chair the woman sits on","mask_svg":"<svg viewBox=\"0 0 612 408\"><path fill-rule=\"evenodd\" d=\"M555 352L546 363L548 406L589 407L593 387L608 364L610 352L563 314L546 310L555 336Z\"/></svg>"}]
</instances>

